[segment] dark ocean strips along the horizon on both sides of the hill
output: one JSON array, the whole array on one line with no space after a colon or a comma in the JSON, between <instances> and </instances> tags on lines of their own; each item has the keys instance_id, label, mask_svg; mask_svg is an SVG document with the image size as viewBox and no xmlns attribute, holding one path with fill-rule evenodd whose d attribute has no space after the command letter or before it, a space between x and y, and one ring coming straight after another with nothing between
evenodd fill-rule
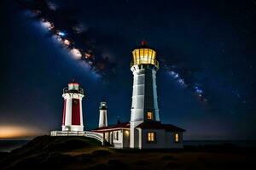
<instances>
[{"instance_id":1,"label":"dark ocean strips along the horizon on both sides of the hill","mask_svg":"<svg viewBox=\"0 0 256 170\"><path fill-rule=\"evenodd\" d=\"M0 152L10 152L27 144L30 140L0 140ZM234 144L240 147L256 147L256 140L184 140L184 145Z\"/></svg>"}]
</instances>

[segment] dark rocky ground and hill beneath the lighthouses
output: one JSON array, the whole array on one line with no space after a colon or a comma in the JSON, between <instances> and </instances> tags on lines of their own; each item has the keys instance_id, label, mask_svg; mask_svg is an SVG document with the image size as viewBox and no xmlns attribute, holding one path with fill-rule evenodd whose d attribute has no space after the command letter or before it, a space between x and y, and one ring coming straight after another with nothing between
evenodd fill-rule
<instances>
[{"instance_id":1,"label":"dark rocky ground and hill beneath the lighthouses","mask_svg":"<svg viewBox=\"0 0 256 170\"><path fill-rule=\"evenodd\" d=\"M255 148L231 144L183 150L114 150L84 137L33 139L0 153L0 169L252 169Z\"/></svg>"}]
</instances>

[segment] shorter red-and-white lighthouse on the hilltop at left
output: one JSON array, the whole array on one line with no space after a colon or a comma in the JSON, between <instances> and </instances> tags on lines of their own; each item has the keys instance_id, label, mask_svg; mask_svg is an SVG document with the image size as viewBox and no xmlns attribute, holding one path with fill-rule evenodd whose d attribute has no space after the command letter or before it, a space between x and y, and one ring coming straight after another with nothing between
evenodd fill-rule
<instances>
[{"instance_id":1,"label":"shorter red-and-white lighthouse on the hilltop at left","mask_svg":"<svg viewBox=\"0 0 256 170\"><path fill-rule=\"evenodd\" d=\"M84 90L78 82L69 82L63 89L64 98L62 131L84 131L82 99Z\"/></svg>"}]
</instances>

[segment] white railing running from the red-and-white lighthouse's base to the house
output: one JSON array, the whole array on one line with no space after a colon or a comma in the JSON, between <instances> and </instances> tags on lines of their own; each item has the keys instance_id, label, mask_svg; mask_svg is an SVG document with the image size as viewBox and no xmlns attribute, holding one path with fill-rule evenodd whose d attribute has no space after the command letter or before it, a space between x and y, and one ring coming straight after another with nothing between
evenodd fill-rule
<instances>
[{"instance_id":1,"label":"white railing running from the red-and-white lighthouse's base to the house","mask_svg":"<svg viewBox=\"0 0 256 170\"><path fill-rule=\"evenodd\" d=\"M103 134L90 131L51 131L50 136L84 136L92 139L99 140L102 145L104 144Z\"/></svg>"}]
</instances>

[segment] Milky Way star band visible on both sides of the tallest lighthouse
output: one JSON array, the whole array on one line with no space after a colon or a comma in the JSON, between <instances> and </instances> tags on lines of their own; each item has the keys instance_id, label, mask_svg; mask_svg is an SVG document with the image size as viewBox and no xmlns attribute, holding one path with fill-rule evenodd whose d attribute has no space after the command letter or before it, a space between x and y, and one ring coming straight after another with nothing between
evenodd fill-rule
<instances>
[{"instance_id":1,"label":"Milky Way star band visible on both sides of the tallest lighthouse","mask_svg":"<svg viewBox=\"0 0 256 170\"><path fill-rule=\"evenodd\" d=\"M46 0L40 1L18 1L21 8L29 10L32 19L39 20L55 39L61 42L64 48L70 50L75 59L85 62L91 71L102 78L107 78L114 73L114 63L108 57L102 56L102 51L96 47L94 37L90 31L86 31L82 23L72 18L75 12L58 8L55 3ZM160 59L167 74L174 79L182 88L189 88L202 104L207 105L208 101L205 92L199 82L189 82L177 71L176 65L167 63ZM183 74L187 74L183 69Z\"/></svg>"}]
</instances>

